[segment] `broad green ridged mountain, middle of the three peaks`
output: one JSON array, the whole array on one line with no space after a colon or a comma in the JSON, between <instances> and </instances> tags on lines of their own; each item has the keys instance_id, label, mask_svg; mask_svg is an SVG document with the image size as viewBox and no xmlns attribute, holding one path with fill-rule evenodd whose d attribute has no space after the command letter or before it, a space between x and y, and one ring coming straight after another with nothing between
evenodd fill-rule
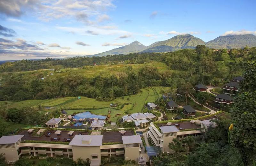
<instances>
[{"instance_id":1,"label":"broad green ridged mountain, middle of the three peaks","mask_svg":"<svg viewBox=\"0 0 256 166\"><path fill-rule=\"evenodd\" d=\"M183 34L172 37L171 39L152 44L147 49L141 52L167 52L178 49L194 49L197 45L205 44L202 39L199 39L191 34Z\"/></svg>"}]
</instances>

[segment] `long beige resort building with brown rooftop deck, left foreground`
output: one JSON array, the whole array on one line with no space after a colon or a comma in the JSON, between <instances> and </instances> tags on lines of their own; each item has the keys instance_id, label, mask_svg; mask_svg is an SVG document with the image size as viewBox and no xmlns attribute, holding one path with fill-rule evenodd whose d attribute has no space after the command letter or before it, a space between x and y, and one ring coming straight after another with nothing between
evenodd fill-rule
<instances>
[{"instance_id":1,"label":"long beige resort building with brown rooftop deck, left foreground","mask_svg":"<svg viewBox=\"0 0 256 166\"><path fill-rule=\"evenodd\" d=\"M33 132L41 130L34 128ZM23 155L29 156L63 156L73 158L89 158L91 165L99 166L101 158L116 156L124 160L141 161L139 135L131 129L119 131L57 131L45 130L41 136L23 130L18 135L0 138L0 153L5 154L7 162L19 160ZM125 134L124 134L125 132ZM57 134L56 134L57 133ZM56 144L55 142L58 142Z\"/></svg>"}]
</instances>

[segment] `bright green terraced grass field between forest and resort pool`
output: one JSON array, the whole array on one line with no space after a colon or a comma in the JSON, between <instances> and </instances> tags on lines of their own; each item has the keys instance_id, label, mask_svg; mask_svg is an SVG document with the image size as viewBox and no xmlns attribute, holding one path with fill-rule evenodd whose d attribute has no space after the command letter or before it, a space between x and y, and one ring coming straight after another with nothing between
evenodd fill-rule
<instances>
[{"instance_id":1,"label":"bright green terraced grass field between forest and resort pool","mask_svg":"<svg viewBox=\"0 0 256 166\"><path fill-rule=\"evenodd\" d=\"M118 97L113 101L100 102L92 98L82 97L64 97L51 100L26 100L21 102L8 102L8 108L22 108L31 106L38 108L40 104L44 111L52 109L65 109L68 115L74 112L90 111L93 114L108 115L108 109L111 109L110 121L116 121L119 116L141 112L145 102L154 102L162 95L161 91L168 87L147 87L140 90L138 94ZM129 100L127 100L129 98ZM119 109L110 108L111 103L117 103ZM123 106L123 108L121 108ZM0 109L7 109L6 102L0 102ZM116 114L121 114L116 116Z\"/></svg>"}]
</instances>

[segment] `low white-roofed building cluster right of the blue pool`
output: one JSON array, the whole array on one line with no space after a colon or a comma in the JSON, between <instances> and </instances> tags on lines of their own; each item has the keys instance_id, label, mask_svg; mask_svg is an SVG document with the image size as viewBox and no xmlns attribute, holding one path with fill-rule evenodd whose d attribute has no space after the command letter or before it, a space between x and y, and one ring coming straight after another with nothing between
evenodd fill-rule
<instances>
[{"instance_id":1,"label":"low white-roofed building cluster right of the blue pool","mask_svg":"<svg viewBox=\"0 0 256 166\"><path fill-rule=\"evenodd\" d=\"M152 113L133 113L132 115L123 116L123 122L134 122L136 127L145 127L150 120L154 119L156 116Z\"/></svg>"}]
</instances>

